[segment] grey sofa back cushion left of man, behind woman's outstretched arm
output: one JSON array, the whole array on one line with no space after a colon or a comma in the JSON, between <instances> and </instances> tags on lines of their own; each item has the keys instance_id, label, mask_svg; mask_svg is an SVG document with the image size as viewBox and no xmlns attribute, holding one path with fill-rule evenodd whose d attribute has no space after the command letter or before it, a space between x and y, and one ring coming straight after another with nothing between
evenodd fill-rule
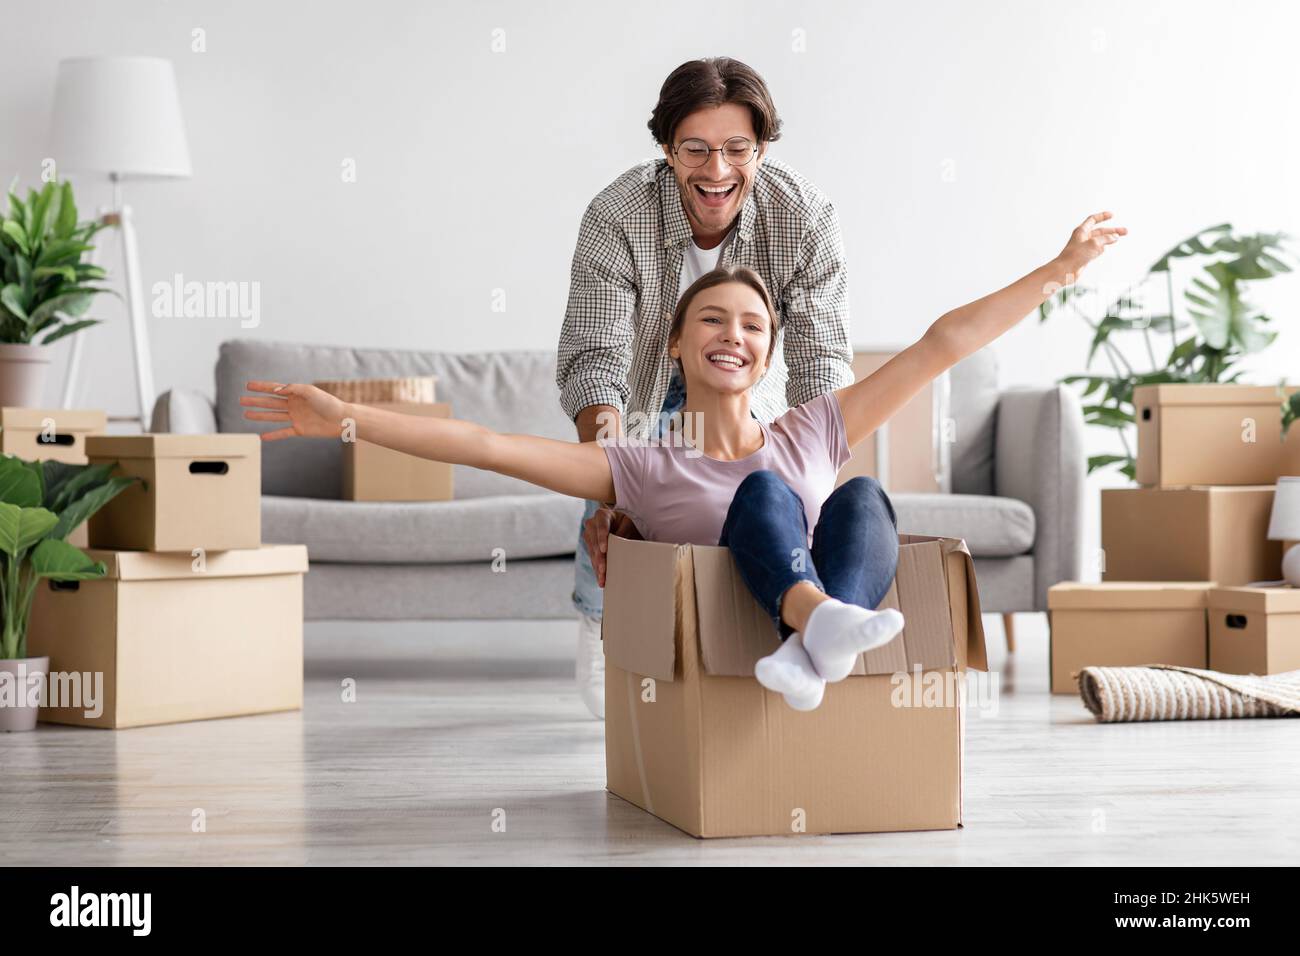
<instances>
[{"instance_id":1,"label":"grey sofa back cushion left of man, behind woman's outstretched arm","mask_svg":"<svg viewBox=\"0 0 1300 956\"><path fill-rule=\"evenodd\" d=\"M344 349L234 339L217 358L217 427L222 432L266 432L270 425L243 418L239 397L250 378L387 378L437 376L439 402L451 414L497 432L576 441L577 432L559 405L555 352L434 352L402 349ZM490 471L455 466L456 498L497 494L550 494ZM343 446L333 438L270 442L261 453L261 490L307 498L338 498L343 489Z\"/></svg>"}]
</instances>

